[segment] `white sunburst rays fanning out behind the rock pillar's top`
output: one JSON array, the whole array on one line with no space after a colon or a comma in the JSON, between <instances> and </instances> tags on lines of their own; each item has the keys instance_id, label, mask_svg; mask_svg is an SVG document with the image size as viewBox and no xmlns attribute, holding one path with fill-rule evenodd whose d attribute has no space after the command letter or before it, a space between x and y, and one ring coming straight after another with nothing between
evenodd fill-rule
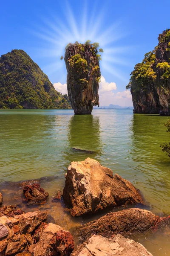
<instances>
[{"instance_id":1,"label":"white sunburst rays fanning out behind the rock pillar's top","mask_svg":"<svg viewBox=\"0 0 170 256\"><path fill-rule=\"evenodd\" d=\"M109 27L105 28L102 24L107 19L107 12L102 9L99 12L95 4L93 8L88 8L87 2L78 20L71 9L68 1L65 2L63 15L65 19L60 20L54 14L50 20L43 18L43 26L35 26L31 32L41 41L44 41L45 47L39 47L36 52L41 57L55 58L54 62L45 66L47 74L59 71L59 75L66 78L66 69L64 61L60 61L61 55L65 53L65 46L68 43L84 44L85 41L99 42L100 47L104 50L102 61L100 62L101 72L106 70L122 81L127 81L124 74L117 66L129 66L129 61L122 58L123 53L132 49L132 46L114 46L117 41L121 41L127 36L122 31L122 20L116 20Z\"/></svg>"}]
</instances>

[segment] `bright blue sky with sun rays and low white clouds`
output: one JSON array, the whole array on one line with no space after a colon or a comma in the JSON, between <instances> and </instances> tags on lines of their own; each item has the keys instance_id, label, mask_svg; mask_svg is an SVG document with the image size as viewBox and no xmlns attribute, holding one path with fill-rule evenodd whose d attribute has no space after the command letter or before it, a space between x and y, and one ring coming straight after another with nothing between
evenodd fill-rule
<instances>
[{"instance_id":1,"label":"bright blue sky with sun rays and low white clouds","mask_svg":"<svg viewBox=\"0 0 170 256\"><path fill-rule=\"evenodd\" d=\"M99 42L100 105L133 105L125 89L130 73L170 28L168 0L8 0L0 6L0 55L23 49L61 93L67 93L65 46Z\"/></svg>"}]
</instances>

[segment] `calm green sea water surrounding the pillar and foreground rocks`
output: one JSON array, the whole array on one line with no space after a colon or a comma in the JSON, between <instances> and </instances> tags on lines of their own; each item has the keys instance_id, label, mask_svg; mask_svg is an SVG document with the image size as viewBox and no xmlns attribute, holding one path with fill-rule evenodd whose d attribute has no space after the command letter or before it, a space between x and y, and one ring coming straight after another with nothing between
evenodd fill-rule
<instances>
[{"instance_id":1,"label":"calm green sea water surrounding the pillar and foreground rocks","mask_svg":"<svg viewBox=\"0 0 170 256\"><path fill-rule=\"evenodd\" d=\"M147 209L170 215L170 158L160 148L161 143L170 141L163 126L167 119L133 114L132 110L94 110L84 116L75 116L72 110L0 111L0 189L4 201L11 203L14 193L21 193L13 182L41 177L48 177L42 179L42 185L52 196L63 188L71 161L92 157L140 189ZM73 147L94 153L74 152ZM43 207L69 230L97 218L72 218L62 203L51 203L50 199ZM134 239L153 255L170 255L170 230Z\"/></svg>"}]
</instances>

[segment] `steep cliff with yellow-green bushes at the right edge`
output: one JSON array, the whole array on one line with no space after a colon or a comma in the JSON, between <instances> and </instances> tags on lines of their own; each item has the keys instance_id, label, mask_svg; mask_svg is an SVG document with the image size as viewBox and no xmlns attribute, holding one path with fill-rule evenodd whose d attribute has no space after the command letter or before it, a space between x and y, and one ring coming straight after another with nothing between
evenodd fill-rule
<instances>
[{"instance_id":1,"label":"steep cliff with yellow-green bushes at the right edge","mask_svg":"<svg viewBox=\"0 0 170 256\"><path fill-rule=\"evenodd\" d=\"M170 115L170 29L159 35L159 44L144 55L130 74L134 113Z\"/></svg>"}]
</instances>

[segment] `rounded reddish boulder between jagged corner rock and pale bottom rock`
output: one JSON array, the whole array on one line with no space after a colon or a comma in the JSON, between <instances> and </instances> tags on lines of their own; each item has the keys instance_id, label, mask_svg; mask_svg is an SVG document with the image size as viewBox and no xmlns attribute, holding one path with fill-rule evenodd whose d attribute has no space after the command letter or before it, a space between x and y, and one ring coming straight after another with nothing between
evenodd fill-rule
<instances>
[{"instance_id":1,"label":"rounded reddish boulder between jagged corner rock and pale bottom rock","mask_svg":"<svg viewBox=\"0 0 170 256\"><path fill-rule=\"evenodd\" d=\"M32 246L34 256L60 255L69 256L74 250L73 236L62 227L49 223L40 229L38 242ZM35 238L34 238L35 239Z\"/></svg>"}]
</instances>

